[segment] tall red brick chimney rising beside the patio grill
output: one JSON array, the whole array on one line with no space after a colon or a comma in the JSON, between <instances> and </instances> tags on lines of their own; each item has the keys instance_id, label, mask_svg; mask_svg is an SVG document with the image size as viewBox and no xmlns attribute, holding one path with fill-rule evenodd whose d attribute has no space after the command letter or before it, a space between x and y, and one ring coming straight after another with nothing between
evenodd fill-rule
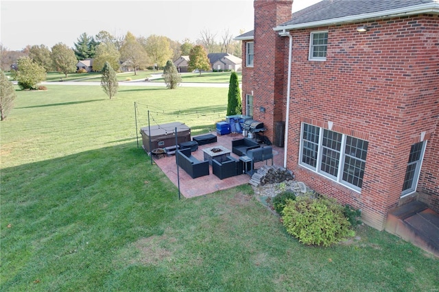
<instances>
[{"instance_id":1,"label":"tall red brick chimney rising beside the patio grill","mask_svg":"<svg viewBox=\"0 0 439 292\"><path fill-rule=\"evenodd\" d=\"M288 60L288 38L273 28L291 19L292 5L293 0L254 1L253 119L263 121L272 142L276 121L285 121Z\"/></svg>"}]
</instances>

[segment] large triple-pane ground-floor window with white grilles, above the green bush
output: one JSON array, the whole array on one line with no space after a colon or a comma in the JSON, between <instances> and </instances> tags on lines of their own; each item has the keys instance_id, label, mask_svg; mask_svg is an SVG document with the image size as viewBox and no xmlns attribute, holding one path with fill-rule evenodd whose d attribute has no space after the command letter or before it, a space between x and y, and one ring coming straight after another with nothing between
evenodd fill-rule
<instances>
[{"instance_id":1,"label":"large triple-pane ground-floor window with white grilles, above the green bush","mask_svg":"<svg viewBox=\"0 0 439 292\"><path fill-rule=\"evenodd\" d=\"M302 123L299 164L361 191L368 142Z\"/></svg>"}]
</instances>

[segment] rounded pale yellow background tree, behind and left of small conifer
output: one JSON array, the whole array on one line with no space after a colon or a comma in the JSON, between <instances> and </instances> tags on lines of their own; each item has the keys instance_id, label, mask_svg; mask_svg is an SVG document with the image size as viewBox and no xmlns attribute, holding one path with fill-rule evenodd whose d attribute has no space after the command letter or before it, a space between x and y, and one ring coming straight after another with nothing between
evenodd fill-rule
<instances>
[{"instance_id":1,"label":"rounded pale yellow background tree, behind and left of small conifer","mask_svg":"<svg viewBox=\"0 0 439 292\"><path fill-rule=\"evenodd\" d=\"M146 40L145 51L153 64L158 68L165 66L166 61L172 58L173 51L169 44L169 38L153 34Z\"/></svg>"}]
</instances>

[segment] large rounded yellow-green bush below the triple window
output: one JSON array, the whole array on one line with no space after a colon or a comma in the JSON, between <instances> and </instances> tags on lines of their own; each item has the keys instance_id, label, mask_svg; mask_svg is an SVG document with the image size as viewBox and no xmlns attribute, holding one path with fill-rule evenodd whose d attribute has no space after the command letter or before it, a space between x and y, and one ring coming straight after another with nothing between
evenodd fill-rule
<instances>
[{"instance_id":1,"label":"large rounded yellow-green bush below the triple window","mask_svg":"<svg viewBox=\"0 0 439 292\"><path fill-rule=\"evenodd\" d=\"M305 245L329 246L355 235L343 207L327 197L288 200L282 214L287 232Z\"/></svg>"}]
</instances>

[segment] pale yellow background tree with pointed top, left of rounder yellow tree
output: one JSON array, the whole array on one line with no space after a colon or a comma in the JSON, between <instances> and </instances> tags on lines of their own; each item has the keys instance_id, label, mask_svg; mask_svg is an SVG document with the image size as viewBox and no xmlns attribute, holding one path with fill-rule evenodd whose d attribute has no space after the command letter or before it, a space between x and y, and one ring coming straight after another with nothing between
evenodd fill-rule
<instances>
[{"instance_id":1,"label":"pale yellow background tree with pointed top, left of rounder yellow tree","mask_svg":"<svg viewBox=\"0 0 439 292\"><path fill-rule=\"evenodd\" d=\"M125 43L121 48L121 61L134 69L134 75L137 75L137 69L147 65L148 56L145 49L130 32L126 34Z\"/></svg>"}]
</instances>

